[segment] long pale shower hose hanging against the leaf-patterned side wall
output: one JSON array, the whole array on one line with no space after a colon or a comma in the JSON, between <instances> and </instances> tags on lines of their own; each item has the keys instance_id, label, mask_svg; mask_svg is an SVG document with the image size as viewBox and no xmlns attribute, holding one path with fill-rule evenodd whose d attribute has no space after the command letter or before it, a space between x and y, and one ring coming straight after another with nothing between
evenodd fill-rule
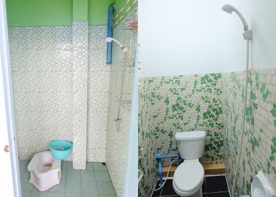
<instances>
[{"instance_id":1,"label":"long pale shower hose hanging against the leaf-patterned side wall","mask_svg":"<svg viewBox=\"0 0 276 197\"><path fill-rule=\"evenodd\" d=\"M245 87L245 91L244 91L244 113L243 113L243 116L242 116L242 133L241 133L241 138L240 138L240 141L239 141L239 154L237 156L237 163L236 163L236 169L235 169L233 187L232 187L232 193L231 193L231 195L233 197L236 196L235 189L236 189L236 185L237 185L237 170L238 170L238 167L239 167L239 163L241 162L242 144L244 142L244 129L245 129L244 126L245 126L245 121L246 121L246 101L247 101L247 92L248 92L249 42L250 42L250 40L247 39L246 40L246 45L247 45L247 49L246 49L246 87Z\"/></svg>"}]
</instances>

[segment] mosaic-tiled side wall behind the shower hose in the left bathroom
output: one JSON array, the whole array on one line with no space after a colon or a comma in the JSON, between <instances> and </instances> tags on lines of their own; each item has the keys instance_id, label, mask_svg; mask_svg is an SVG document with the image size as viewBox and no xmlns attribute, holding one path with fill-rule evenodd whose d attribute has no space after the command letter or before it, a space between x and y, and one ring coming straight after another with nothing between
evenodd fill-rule
<instances>
[{"instance_id":1,"label":"mosaic-tiled side wall behind the shower hose in the left bathroom","mask_svg":"<svg viewBox=\"0 0 276 197\"><path fill-rule=\"evenodd\" d=\"M130 13L131 15L132 13ZM115 119L119 108L122 73L124 68L124 52L119 45L112 45L112 63L110 66L110 86L108 98L108 125L106 133L106 165L117 196L123 196L126 171L126 155L130 123L130 104L132 98L132 67L137 45L137 30L126 30L124 23L119 23L113 30L113 37L129 48L126 54L126 76L122 95L120 113L120 129L117 130Z\"/></svg>"}]
</instances>

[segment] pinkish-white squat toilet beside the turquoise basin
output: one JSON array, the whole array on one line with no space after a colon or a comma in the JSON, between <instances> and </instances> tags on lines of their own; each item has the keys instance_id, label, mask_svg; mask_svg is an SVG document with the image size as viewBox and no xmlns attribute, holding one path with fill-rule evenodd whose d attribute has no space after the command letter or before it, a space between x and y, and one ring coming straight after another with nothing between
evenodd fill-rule
<instances>
[{"instance_id":1,"label":"pinkish-white squat toilet beside the turquoise basin","mask_svg":"<svg viewBox=\"0 0 276 197\"><path fill-rule=\"evenodd\" d=\"M28 165L29 182L39 191L46 191L60 183L61 160L52 157L50 151L34 154Z\"/></svg>"}]
</instances>

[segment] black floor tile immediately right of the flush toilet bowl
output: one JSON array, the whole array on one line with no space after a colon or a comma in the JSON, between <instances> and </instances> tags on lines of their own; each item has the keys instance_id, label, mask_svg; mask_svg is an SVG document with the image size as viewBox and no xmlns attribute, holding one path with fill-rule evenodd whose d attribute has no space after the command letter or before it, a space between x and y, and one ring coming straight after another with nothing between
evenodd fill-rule
<instances>
[{"instance_id":1,"label":"black floor tile immediately right of the flush toilet bowl","mask_svg":"<svg viewBox=\"0 0 276 197\"><path fill-rule=\"evenodd\" d=\"M206 193L219 191L228 191L225 176L206 176Z\"/></svg>"}]
</instances>

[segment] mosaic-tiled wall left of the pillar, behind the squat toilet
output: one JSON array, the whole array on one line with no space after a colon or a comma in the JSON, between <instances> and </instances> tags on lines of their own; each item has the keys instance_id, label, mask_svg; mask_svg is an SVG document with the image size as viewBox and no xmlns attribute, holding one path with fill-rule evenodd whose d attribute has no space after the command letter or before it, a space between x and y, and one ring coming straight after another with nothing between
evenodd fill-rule
<instances>
[{"instance_id":1,"label":"mosaic-tiled wall left of the pillar, behind the squat toilet","mask_svg":"<svg viewBox=\"0 0 276 197\"><path fill-rule=\"evenodd\" d=\"M72 27L9 28L9 41L19 158L30 159L73 141Z\"/></svg>"}]
</instances>

